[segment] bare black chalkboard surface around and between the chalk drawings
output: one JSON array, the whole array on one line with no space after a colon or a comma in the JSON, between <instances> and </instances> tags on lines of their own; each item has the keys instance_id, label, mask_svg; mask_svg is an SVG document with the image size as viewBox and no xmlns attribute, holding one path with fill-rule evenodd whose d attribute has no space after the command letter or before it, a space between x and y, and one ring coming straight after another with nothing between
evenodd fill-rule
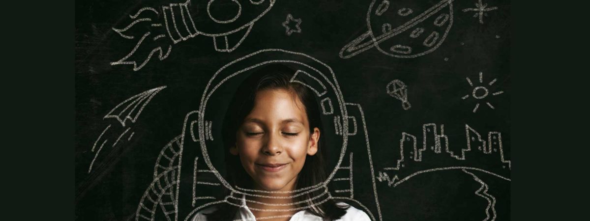
<instances>
[{"instance_id":1,"label":"bare black chalkboard surface around and between the chalk drawings","mask_svg":"<svg viewBox=\"0 0 590 221\"><path fill-rule=\"evenodd\" d=\"M440 48L418 58L393 58L375 48L355 57L338 57L340 49L366 31L370 1L279 1L259 21L237 50L217 52L212 39L197 36L173 45L168 58L152 58L139 71L130 65L110 65L135 45L111 28L124 27L128 17L158 1L86 1L76 5L76 219L127 220L152 180L159 151L182 131L186 113L198 109L199 99L212 74L222 65L251 52L281 48L302 52L332 67L345 101L362 105L365 112L375 173L394 166L402 132L414 134L421 143L422 124L445 125L450 148L465 148L465 124L486 137L500 131L504 150L510 156L510 19L509 2L484 1L498 9L488 12L484 24L473 18L476 1L455 1L454 25ZM424 4L433 2L424 1ZM286 15L301 18L301 33L285 35L281 23ZM497 38L496 36L499 36ZM463 44L461 44L463 43ZM445 61L445 58L448 58ZM465 80L484 82L497 78L490 91L504 94L487 100L495 110L476 101L461 100L473 88ZM386 93L394 79L408 85L409 110ZM166 85L155 95L133 125L129 143L105 147L91 173L91 148L104 127L116 123L104 119L114 106L151 88ZM393 157L392 157L393 156ZM448 155L425 159L405 167L403 174L445 166L471 166L510 177L500 159L467 157L451 160ZM390 175L395 173L388 172ZM474 172L475 173L475 172ZM509 217L509 186L503 180L478 176L490 186L498 200L497 220ZM369 174L367 174L369 176ZM402 177L402 174L400 174ZM384 220L483 220L486 201L474 194L480 184L461 171L444 171L419 176L399 187L377 183Z\"/></svg>"}]
</instances>

